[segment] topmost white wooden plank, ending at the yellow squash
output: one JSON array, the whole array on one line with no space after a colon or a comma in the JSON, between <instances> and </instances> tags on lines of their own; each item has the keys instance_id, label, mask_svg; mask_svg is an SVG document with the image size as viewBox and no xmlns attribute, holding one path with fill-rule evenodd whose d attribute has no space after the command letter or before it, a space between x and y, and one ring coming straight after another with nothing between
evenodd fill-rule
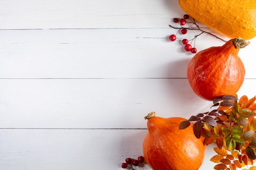
<instances>
[{"instance_id":1,"label":"topmost white wooden plank, ending at the yellow squash","mask_svg":"<svg viewBox=\"0 0 256 170\"><path fill-rule=\"evenodd\" d=\"M167 28L183 15L174 0L1 0L0 29Z\"/></svg>"}]
</instances>

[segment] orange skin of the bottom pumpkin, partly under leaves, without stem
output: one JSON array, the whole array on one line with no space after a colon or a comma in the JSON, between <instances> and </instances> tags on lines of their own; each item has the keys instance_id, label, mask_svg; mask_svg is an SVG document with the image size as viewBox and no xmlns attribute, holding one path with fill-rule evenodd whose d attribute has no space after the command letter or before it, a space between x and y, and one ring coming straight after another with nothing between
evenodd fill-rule
<instances>
[{"instance_id":1,"label":"orange skin of the bottom pumpkin, partly under leaves, without stem","mask_svg":"<svg viewBox=\"0 0 256 170\"><path fill-rule=\"evenodd\" d=\"M144 158L153 170L198 170L205 145L193 134L193 126L179 130L180 117L148 119L143 142Z\"/></svg>"}]
</instances>

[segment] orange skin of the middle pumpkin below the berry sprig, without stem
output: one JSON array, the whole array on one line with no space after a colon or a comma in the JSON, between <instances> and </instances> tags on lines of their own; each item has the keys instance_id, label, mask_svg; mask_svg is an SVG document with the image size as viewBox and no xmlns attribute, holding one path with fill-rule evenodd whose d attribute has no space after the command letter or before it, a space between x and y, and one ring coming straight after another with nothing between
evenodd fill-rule
<instances>
[{"instance_id":1,"label":"orange skin of the middle pumpkin below the berry sprig, without stem","mask_svg":"<svg viewBox=\"0 0 256 170\"><path fill-rule=\"evenodd\" d=\"M245 79L245 67L233 39L223 46L198 52L188 65L188 80L199 97L206 100L234 95Z\"/></svg>"}]
</instances>

